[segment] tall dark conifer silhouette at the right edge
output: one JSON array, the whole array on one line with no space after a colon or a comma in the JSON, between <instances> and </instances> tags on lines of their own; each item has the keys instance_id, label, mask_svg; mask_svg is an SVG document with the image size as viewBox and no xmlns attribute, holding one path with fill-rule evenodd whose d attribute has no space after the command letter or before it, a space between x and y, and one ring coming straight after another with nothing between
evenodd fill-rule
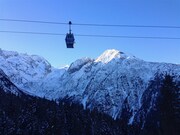
<instances>
[{"instance_id":1,"label":"tall dark conifer silhouette at the right edge","mask_svg":"<svg viewBox=\"0 0 180 135\"><path fill-rule=\"evenodd\" d=\"M179 127L179 88L173 77L165 75L160 90L160 123L163 135L177 135Z\"/></svg>"}]
</instances>

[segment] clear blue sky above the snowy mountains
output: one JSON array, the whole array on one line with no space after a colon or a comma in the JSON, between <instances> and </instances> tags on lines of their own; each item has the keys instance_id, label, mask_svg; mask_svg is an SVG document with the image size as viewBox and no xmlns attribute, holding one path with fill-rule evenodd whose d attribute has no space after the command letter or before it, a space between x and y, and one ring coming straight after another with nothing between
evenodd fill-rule
<instances>
[{"instance_id":1,"label":"clear blue sky above the snowy mountains","mask_svg":"<svg viewBox=\"0 0 180 135\"><path fill-rule=\"evenodd\" d=\"M180 26L179 0L0 0L0 18L51 22ZM68 25L0 21L0 30L68 32ZM76 34L180 37L180 29L72 26ZM0 48L43 56L61 67L117 49L154 62L180 63L180 40L75 37L0 33Z\"/></svg>"}]
</instances>

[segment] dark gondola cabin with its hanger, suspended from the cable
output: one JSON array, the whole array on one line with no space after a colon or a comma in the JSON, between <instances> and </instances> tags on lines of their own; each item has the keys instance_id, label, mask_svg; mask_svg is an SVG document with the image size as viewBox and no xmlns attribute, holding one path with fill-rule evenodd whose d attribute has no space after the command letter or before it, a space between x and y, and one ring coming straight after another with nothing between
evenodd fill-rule
<instances>
[{"instance_id":1,"label":"dark gondola cabin with its hanger, suspended from the cable","mask_svg":"<svg viewBox=\"0 0 180 135\"><path fill-rule=\"evenodd\" d=\"M69 21L69 33L66 34L65 38L67 48L74 48L75 43L74 35L71 33L71 24L71 21Z\"/></svg>"}]
</instances>

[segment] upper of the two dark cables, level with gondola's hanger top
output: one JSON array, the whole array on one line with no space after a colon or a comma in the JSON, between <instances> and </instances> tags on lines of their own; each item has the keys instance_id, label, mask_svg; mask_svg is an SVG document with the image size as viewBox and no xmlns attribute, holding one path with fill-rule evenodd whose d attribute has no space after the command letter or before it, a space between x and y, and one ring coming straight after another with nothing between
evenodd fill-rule
<instances>
[{"instance_id":1,"label":"upper of the two dark cables, level with gondola's hanger top","mask_svg":"<svg viewBox=\"0 0 180 135\"><path fill-rule=\"evenodd\" d=\"M0 21L68 25L68 23L64 23L64 22L21 20L21 19L3 19L3 18L0 18ZM77 26L95 26L95 27L137 27L137 28L180 29L180 26L160 26L160 25L124 25L124 24L90 24L90 23L72 23L72 25L77 25Z\"/></svg>"}]
</instances>

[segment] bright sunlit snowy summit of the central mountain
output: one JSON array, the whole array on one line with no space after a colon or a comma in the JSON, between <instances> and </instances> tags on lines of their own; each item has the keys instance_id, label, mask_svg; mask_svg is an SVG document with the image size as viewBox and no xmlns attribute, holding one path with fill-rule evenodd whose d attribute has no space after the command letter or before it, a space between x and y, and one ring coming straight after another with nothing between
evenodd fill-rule
<instances>
[{"instance_id":1,"label":"bright sunlit snowy summit of the central mountain","mask_svg":"<svg viewBox=\"0 0 180 135\"><path fill-rule=\"evenodd\" d=\"M129 58L135 58L134 56L127 55L124 52L121 52L119 50L115 49L109 49L106 50L102 55L100 55L95 62L102 62L102 63L108 63L113 59L129 59Z\"/></svg>"}]
</instances>

